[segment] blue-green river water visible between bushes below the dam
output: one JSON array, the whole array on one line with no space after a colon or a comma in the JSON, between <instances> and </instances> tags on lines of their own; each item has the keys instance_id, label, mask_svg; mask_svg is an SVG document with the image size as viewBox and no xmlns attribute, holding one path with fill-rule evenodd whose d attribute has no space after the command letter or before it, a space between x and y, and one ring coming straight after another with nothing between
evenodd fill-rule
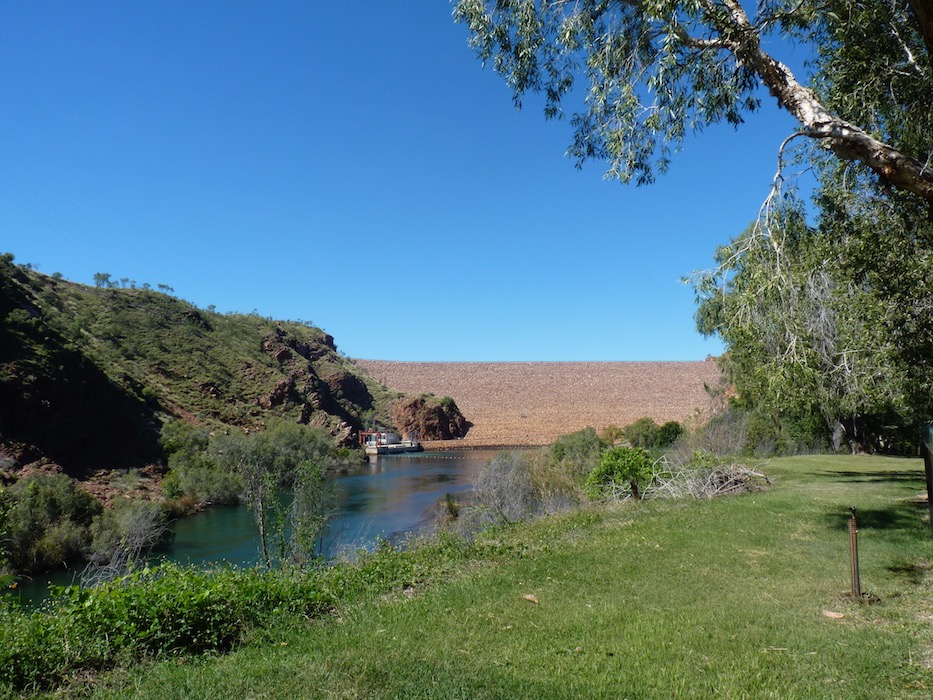
<instances>
[{"instance_id":1,"label":"blue-green river water visible between bushes below the dam","mask_svg":"<svg viewBox=\"0 0 933 700\"><path fill-rule=\"evenodd\" d=\"M495 452L422 452L371 457L368 464L329 479L336 513L322 542L325 556L335 557L395 541L432 521L433 509L446 494L464 494ZM259 535L245 506L209 508L173 523L171 549L159 556L186 564L227 562L251 566L260 562ZM22 583L19 595L38 600L49 584L69 585L76 572L55 572Z\"/></svg>"}]
</instances>

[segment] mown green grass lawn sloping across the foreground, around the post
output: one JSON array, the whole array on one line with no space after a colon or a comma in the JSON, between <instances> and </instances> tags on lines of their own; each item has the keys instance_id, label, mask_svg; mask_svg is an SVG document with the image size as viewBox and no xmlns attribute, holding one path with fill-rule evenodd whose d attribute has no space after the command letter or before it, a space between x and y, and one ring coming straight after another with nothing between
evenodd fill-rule
<instances>
[{"instance_id":1,"label":"mown green grass lawn sloping across the foreground, around the post","mask_svg":"<svg viewBox=\"0 0 933 700\"><path fill-rule=\"evenodd\" d=\"M115 672L94 697L929 698L920 460L797 457L766 491L490 533L457 573L238 651ZM860 514L862 588L846 521ZM832 614L829 616L828 614Z\"/></svg>"}]
</instances>

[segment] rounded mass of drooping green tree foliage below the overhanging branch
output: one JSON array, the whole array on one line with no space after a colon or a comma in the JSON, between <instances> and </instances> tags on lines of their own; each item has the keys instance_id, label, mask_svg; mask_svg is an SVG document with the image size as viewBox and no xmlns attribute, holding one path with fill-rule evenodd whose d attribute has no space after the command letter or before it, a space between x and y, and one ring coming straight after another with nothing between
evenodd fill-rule
<instances>
[{"instance_id":1,"label":"rounded mass of drooping green tree foliage below the overhanging branch","mask_svg":"<svg viewBox=\"0 0 933 700\"><path fill-rule=\"evenodd\" d=\"M824 188L822 201L836 198ZM804 205L784 200L720 249L716 274L696 282L697 325L725 341L746 408L810 426L811 442L900 449L931 405L929 224L838 204L808 226Z\"/></svg>"}]
</instances>

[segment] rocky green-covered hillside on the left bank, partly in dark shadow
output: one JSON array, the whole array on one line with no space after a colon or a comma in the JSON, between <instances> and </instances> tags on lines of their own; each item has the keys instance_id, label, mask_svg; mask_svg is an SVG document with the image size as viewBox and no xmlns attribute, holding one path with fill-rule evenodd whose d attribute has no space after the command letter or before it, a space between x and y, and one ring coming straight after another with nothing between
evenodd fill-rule
<instances>
[{"instance_id":1,"label":"rocky green-covered hillside on the left bank, partly in dark shadow","mask_svg":"<svg viewBox=\"0 0 933 700\"><path fill-rule=\"evenodd\" d=\"M425 439L469 427L453 401L387 388L318 328L104 282L0 256L0 470L56 464L81 477L150 464L173 416L243 429L285 417L342 444L373 421Z\"/></svg>"}]
</instances>

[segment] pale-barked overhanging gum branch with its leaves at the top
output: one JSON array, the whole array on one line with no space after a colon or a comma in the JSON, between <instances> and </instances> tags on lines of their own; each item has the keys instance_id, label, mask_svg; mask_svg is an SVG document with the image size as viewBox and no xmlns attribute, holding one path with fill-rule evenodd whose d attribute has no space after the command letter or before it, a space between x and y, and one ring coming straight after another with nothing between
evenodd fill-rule
<instances>
[{"instance_id":1,"label":"pale-barked overhanging gum branch with its leaves at the top","mask_svg":"<svg viewBox=\"0 0 933 700\"><path fill-rule=\"evenodd\" d=\"M930 0L763 0L754 6L738 0L460 0L454 9L456 21L469 28L470 44L505 78L517 105L529 92L543 93L545 115L558 117L564 102L585 90L582 108L571 117L569 153L578 164L605 160L608 176L651 182L667 169L685 134L719 122L740 124L759 108L764 88L798 121L798 135L931 205L929 138L923 144L887 140L891 134L878 120L893 118L895 108L866 112L859 93L848 103L833 101L771 52L780 51L775 39L781 38L841 45L839 78L858 82L860 64L878 67L873 48L860 48L869 26L859 21L865 16L883 21L870 33L893 54L877 86L904 74L898 82L913 85L921 99L928 96ZM843 90L844 79L829 78ZM922 104L928 106L929 97Z\"/></svg>"}]
</instances>

